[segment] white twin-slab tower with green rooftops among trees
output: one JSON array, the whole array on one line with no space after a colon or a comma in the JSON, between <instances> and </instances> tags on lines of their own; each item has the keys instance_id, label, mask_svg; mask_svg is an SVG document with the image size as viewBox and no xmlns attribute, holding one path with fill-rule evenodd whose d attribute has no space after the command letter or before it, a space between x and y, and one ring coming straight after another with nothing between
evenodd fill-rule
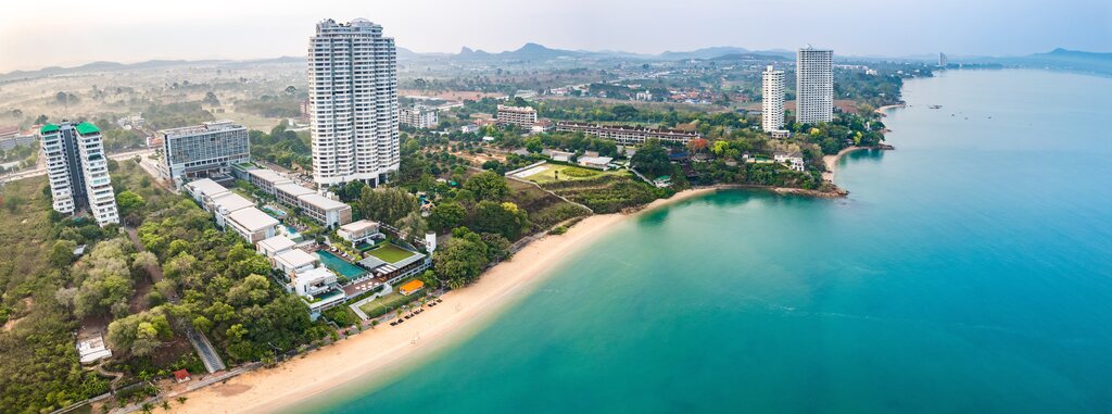
<instances>
[{"instance_id":1,"label":"white twin-slab tower with green rooftops among trees","mask_svg":"<svg viewBox=\"0 0 1112 414\"><path fill-rule=\"evenodd\" d=\"M100 226L120 223L100 129L63 121L42 126L39 136L54 210L73 214L88 208Z\"/></svg>"}]
</instances>

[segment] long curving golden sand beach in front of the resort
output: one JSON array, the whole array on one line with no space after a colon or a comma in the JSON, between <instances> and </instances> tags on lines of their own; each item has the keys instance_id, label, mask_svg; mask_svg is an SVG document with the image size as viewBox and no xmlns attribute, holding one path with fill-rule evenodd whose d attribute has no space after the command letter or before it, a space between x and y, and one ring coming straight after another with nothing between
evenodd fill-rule
<instances>
[{"instance_id":1,"label":"long curving golden sand beach in front of the resort","mask_svg":"<svg viewBox=\"0 0 1112 414\"><path fill-rule=\"evenodd\" d=\"M707 193L699 188L658 199L642 211ZM587 217L560 236L546 236L490 268L479 282L443 296L444 303L400 326L380 325L331 346L186 394L180 413L264 413L287 407L354 378L374 379L398 362L411 362L453 337L461 337L489 321L544 278L565 257L588 247L614 225L633 215ZM369 374L369 377L368 377ZM385 375L385 374L384 374Z\"/></svg>"}]
</instances>

